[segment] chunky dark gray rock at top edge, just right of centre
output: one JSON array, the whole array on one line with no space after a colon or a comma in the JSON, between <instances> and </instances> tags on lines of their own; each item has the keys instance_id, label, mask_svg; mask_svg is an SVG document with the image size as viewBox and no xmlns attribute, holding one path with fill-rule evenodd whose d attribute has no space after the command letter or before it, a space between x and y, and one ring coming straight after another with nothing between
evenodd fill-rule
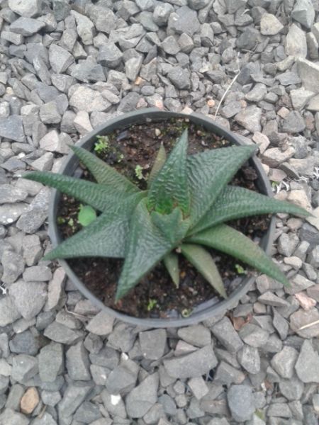
<instances>
[{"instance_id":1,"label":"chunky dark gray rock at top edge, just right of centre","mask_svg":"<svg viewBox=\"0 0 319 425\"><path fill-rule=\"evenodd\" d=\"M171 13L168 21L168 29L178 34L186 33L190 36L198 33L201 26L196 11L188 6L181 6L176 13Z\"/></svg>"}]
</instances>

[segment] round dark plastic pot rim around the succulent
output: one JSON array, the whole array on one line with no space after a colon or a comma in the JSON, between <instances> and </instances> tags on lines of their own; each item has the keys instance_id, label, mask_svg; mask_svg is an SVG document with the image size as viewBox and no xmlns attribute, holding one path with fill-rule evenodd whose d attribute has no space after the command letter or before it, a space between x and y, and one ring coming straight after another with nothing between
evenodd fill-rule
<instances>
[{"instance_id":1,"label":"round dark plastic pot rim around the succulent","mask_svg":"<svg viewBox=\"0 0 319 425\"><path fill-rule=\"evenodd\" d=\"M196 123L198 125L203 125L206 130L216 133L217 135L223 136L226 140L233 142L235 145L243 145L243 142L232 132L226 130L220 125L214 123L213 120L207 118L204 115L199 115L196 113L192 113L191 115L185 115L181 113L172 113L166 111L159 111L157 108L146 108L141 109L140 111L133 111L130 113L126 113L125 115L120 115L116 118L108 120L107 123L99 126L93 132L90 132L89 135L83 137L77 143L78 146L84 147L88 150L94 145L96 142L96 135L106 135L113 130L128 128L130 125L136 123L147 123L154 120L166 120L169 118L178 118L184 117L188 118L191 122ZM257 157L252 157L250 159L250 164L257 171L258 180L257 186L261 193L264 193L268 196L272 196L272 188L270 186L267 175L264 173L264 169L262 164L259 162ZM65 159L65 162L62 164L60 169L61 174L67 174L69 176L74 175L75 170L79 166L79 161L74 154L69 154ZM56 190L52 190L52 196L50 199L49 206L49 235L52 240L53 246L57 246L62 242L62 237L57 229L57 208L59 205L60 193ZM274 240L274 229L275 229L275 220L272 217L272 220L269 225L269 229L266 234L262 238L260 242L260 246L262 249L268 253L269 249L272 246ZM241 283L237 286L237 289L230 294L227 300L223 300L220 302L208 300L203 302L201 305L198 305L196 309L194 309L193 313L190 317L187 318L178 318L178 319L145 319L138 317L130 317L127 314L123 314L121 312L117 312L106 305L103 305L103 302L99 300L95 295L93 295L87 288L86 285L80 280L76 274L72 271L72 268L69 267L69 264L65 260L59 260L61 266L65 269L67 276L72 280L74 285L77 287L82 294L88 298L94 305L101 308L101 310L107 312L113 317L117 319L121 319L124 322L128 322L132 325L140 325L142 327L181 327L189 324L196 324L203 320L209 319L217 314L226 312L226 310L230 310L231 308L237 305L237 302L240 298L247 293L250 289L252 283L254 282L254 277L246 277L242 278ZM215 302L215 303L214 303Z\"/></svg>"}]
</instances>

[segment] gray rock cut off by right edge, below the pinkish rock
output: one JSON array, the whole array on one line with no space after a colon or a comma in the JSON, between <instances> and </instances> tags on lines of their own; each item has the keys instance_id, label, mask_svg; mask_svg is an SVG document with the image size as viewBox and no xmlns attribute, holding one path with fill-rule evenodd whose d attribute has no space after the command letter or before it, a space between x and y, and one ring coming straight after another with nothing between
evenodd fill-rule
<instances>
[{"instance_id":1,"label":"gray rock cut off by right edge, below the pinkish rock","mask_svg":"<svg viewBox=\"0 0 319 425\"><path fill-rule=\"evenodd\" d=\"M303 341L295 368L302 382L319 382L319 354L311 341Z\"/></svg>"}]
</instances>

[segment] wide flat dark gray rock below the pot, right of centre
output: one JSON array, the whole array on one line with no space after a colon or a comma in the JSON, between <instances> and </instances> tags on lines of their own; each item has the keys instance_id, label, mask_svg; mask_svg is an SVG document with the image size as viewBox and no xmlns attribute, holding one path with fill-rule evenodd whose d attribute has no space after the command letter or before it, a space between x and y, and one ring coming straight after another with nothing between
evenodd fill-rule
<instances>
[{"instance_id":1,"label":"wide flat dark gray rock below the pot, right of centre","mask_svg":"<svg viewBox=\"0 0 319 425\"><path fill-rule=\"evenodd\" d=\"M177 358L164 360L167 373L174 378L196 378L215 368L217 359L211 345Z\"/></svg>"}]
</instances>

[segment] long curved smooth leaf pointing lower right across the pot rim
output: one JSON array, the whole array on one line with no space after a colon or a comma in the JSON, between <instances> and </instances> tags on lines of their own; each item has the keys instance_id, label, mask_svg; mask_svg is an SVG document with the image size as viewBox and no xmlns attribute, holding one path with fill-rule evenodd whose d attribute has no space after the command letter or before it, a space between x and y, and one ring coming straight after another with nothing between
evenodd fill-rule
<instances>
[{"instance_id":1,"label":"long curved smooth leaf pointing lower right across the pot rim","mask_svg":"<svg viewBox=\"0 0 319 425\"><path fill-rule=\"evenodd\" d=\"M211 246L218 251L225 252L236 259L244 261L283 285L289 286L289 280L272 259L254 244L245 234L238 232L227 225L217 225L203 230L186 239L186 242Z\"/></svg>"}]
</instances>

